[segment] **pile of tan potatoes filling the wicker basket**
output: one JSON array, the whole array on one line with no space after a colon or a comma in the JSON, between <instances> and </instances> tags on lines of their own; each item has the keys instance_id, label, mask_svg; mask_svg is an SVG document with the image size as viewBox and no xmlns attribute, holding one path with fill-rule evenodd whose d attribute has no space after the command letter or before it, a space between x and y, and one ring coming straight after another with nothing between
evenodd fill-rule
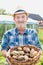
<instances>
[{"instance_id":1,"label":"pile of tan potatoes filling the wicker basket","mask_svg":"<svg viewBox=\"0 0 43 65\"><path fill-rule=\"evenodd\" d=\"M16 47L10 52L12 58L18 61L28 61L37 55L37 51L29 47Z\"/></svg>"}]
</instances>

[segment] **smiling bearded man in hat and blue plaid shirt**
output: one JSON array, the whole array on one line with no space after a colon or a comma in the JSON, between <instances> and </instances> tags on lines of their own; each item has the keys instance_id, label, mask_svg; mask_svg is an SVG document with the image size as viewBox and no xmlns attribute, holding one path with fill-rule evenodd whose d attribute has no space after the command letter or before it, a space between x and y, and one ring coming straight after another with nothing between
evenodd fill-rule
<instances>
[{"instance_id":1,"label":"smiling bearded man in hat and blue plaid shirt","mask_svg":"<svg viewBox=\"0 0 43 65\"><path fill-rule=\"evenodd\" d=\"M38 34L33 29L26 28L28 14L25 10L17 10L14 13L16 28L8 30L2 38L2 54L10 57L8 49L20 45L35 45L41 50Z\"/></svg>"}]
</instances>

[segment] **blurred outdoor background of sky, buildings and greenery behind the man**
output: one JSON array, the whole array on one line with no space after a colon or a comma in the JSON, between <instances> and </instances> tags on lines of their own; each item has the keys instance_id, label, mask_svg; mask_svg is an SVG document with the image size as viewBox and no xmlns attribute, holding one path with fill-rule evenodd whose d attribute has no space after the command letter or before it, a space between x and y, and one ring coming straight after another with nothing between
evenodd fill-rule
<instances>
[{"instance_id":1,"label":"blurred outdoor background of sky, buildings and greenery behind the man","mask_svg":"<svg viewBox=\"0 0 43 65\"><path fill-rule=\"evenodd\" d=\"M27 28L35 29L38 32L42 55L37 65L43 65L43 0L0 0L0 65L7 64L1 53L2 37L5 31L16 27L13 13L19 6L29 13Z\"/></svg>"}]
</instances>

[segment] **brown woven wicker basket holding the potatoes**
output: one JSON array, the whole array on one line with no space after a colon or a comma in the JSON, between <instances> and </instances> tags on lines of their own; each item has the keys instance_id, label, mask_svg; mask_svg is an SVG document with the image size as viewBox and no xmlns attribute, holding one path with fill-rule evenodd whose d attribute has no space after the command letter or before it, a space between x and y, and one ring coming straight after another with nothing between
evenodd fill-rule
<instances>
[{"instance_id":1,"label":"brown woven wicker basket holding the potatoes","mask_svg":"<svg viewBox=\"0 0 43 65\"><path fill-rule=\"evenodd\" d=\"M21 47L24 47L24 46L21 46ZM8 60L10 61L10 65L35 65L35 63L37 63L40 59L40 51L39 51L39 48L37 48L36 46L32 46L32 45L28 45L27 47L29 48L33 48L34 50L36 50L38 52L38 54L34 57L34 58L31 58L29 59L29 61L17 61L15 60L14 58L8 58ZM14 48L13 48L14 49ZM11 49L11 51L13 50Z\"/></svg>"}]
</instances>

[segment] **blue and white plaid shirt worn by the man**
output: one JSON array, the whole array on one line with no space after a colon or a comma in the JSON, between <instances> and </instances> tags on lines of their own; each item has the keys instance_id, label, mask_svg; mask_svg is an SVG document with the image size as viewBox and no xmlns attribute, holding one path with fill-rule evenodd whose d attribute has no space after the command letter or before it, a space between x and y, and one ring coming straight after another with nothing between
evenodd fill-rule
<instances>
[{"instance_id":1,"label":"blue and white plaid shirt worn by the man","mask_svg":"<svg viewBox=\"0 0 43 65\"><path fill-rule=\"evenodd\" d=\"M41 49L37 32L34 29L25 29L22 35L17 28L5 32L2 38L2 50L7 50L10 46L20 45L35 45Z\"/></svg>"}]
</instances>

